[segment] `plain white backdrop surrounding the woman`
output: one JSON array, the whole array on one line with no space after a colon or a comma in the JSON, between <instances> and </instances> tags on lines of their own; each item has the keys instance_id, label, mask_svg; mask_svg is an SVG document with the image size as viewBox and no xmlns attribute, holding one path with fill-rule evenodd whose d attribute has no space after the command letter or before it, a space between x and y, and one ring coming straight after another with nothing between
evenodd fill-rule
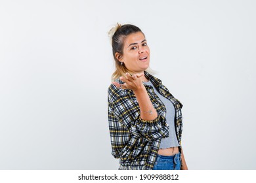
<instances>
[{"instance_id":1,"label":"plain white backdrop surrounding the woman","mask_svg":"<svg viewBox=\"0 0 256 183\"><path fill-rule=\"evenodd\" d=\"M109 29L135 24L182 104L189 169L256 169L255 1L0 1L0 169L117 169Z\"/></svg>"}]
</instances>

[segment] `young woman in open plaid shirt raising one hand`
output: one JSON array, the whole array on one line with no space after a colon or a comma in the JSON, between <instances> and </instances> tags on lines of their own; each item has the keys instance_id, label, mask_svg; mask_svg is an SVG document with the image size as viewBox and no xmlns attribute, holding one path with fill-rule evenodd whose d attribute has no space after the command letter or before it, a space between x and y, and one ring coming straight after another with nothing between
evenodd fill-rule
<instances>
[{"instance_id":1,"label":"young woman in open plaid shirt raising one hand","mask_svg":"<svg viewBox=\"0 0 256 183\"><path fill-rule=\"evenodd\" d=\"M188 169L181 147L182 104L146 71L150 48L144 33L117 24L110 35L116 71L108 88L108 122L119 169Z\"/></svg>"}]
</instances>

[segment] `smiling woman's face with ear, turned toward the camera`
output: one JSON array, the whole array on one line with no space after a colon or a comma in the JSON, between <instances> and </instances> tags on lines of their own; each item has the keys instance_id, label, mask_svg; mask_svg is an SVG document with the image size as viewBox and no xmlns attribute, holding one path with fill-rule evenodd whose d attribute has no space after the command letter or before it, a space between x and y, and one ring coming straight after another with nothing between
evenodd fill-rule
<instances>
[{"instance_id":1,"label":"smiling woman's face with ear, turned toward the camera","mask_svg":"<svg viewBox=\"0 0 256 183\"><path fill-rule=\"evenodd\" d=\"M118 58L133 73L143 73L150 65L150 48L142 32L127 36L123 45L123 56Z\"/></svg>"}]
</instances>

